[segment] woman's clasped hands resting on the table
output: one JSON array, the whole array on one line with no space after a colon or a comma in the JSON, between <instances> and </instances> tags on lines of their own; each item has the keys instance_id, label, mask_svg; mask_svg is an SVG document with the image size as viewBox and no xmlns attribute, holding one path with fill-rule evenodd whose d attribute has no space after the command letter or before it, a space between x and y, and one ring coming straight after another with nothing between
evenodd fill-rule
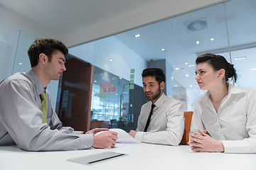
<instances>
[{"instance_id":1,"label":"woman's clasped hands resting on the table","mask_svg":"<svg viewBox=\"0 0 256 170\"><path fill-rule=\"evenodd\" d=\"M188 145L192 145L191 150L198 152L224 152L224 146L220 140L213 140L213 137L206 134L206 130L198 129L198 131L201 135L193 132L189 136L190 142L188 142Z\"/></svg>"}]
</instances>

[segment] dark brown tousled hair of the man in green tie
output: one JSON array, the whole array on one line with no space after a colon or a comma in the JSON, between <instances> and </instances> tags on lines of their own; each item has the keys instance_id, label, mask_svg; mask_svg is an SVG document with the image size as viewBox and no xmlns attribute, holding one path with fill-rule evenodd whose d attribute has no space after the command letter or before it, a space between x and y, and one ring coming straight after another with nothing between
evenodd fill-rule
<instances>
[{"instance_id":1,"label":"dark brown tousled hair of the man in green tie","mask_svg":"<svg viewBox=\"0 0 256 170\"><path fill-rule=\"evenodd\" d=\"M49 62L51 62L52 55L55 50L60 50L63 55L68 54L68 48L59 40L51 38L36 39L28 49L28 57L31 62L31 67L38 64L39 55L41 53L44 53L48 57Z\"/></svg>"}]
</instances>

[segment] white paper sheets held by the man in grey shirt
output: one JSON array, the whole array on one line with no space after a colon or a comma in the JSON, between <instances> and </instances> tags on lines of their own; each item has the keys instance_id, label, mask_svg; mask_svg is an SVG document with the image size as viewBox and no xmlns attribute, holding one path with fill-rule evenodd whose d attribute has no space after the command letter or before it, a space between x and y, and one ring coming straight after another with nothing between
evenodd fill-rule
<instances>
[{"instance_id":1,"label":"white paper sheets held by the man in grey shirt","mask_svg":"<svg viewBox=\"0 0 256 170\"><path fill-rule=\"evenodd\" d=\"M139 144L139 143L141 143L138 140L135 140L133 137L131 137L131 135L129 135L127 132L125 132L122 129L112 128L112 129L110 129L110 131L117 132L117 137L118 137L117 143L124 143L124 144ZM107 132L107 131L97 132L95 135L99 135L102 132Z\"/></svg>"}]
</instances>

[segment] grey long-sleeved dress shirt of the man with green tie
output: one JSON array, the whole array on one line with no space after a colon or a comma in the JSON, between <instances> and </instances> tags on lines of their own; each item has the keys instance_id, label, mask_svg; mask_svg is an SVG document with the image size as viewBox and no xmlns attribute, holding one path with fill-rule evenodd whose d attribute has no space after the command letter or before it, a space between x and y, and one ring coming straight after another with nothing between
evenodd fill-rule
<instances>
[{"instance_id":1,"label":"grey long-sleeved dress shirt of the man with green tie","mask_svg":"<svg viewBox=\"0 0 256 170\"><path fill-rule=\"evenodd\" d=\"M75 150L92 146L93 135L63 127L46 90L47 123L42 124L40 94L45 91L31 70L0 83L0 146L17 145L29 151Z\"/></svg>"}]
</instances>

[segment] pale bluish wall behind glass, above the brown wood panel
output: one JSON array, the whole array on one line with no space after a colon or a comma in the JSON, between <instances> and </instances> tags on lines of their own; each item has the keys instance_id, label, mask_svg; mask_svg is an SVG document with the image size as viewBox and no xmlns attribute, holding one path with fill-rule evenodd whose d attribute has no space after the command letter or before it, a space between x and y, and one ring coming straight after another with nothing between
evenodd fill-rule
<instances>
[{"instance_id":1,"label":"pale bluish wall behind glass, above the brown wood panel","mask_svg":"<svg viewBox=\"0 0 256 170\"><path fill-rule=\"evenodd\" d=\"M117 38L104 38L73 47L69 53L127 80L130 79L131 69L135 69L134 84L142 86L142 71L146 68L146 61Z\"/></svg>"}]
</instances>

